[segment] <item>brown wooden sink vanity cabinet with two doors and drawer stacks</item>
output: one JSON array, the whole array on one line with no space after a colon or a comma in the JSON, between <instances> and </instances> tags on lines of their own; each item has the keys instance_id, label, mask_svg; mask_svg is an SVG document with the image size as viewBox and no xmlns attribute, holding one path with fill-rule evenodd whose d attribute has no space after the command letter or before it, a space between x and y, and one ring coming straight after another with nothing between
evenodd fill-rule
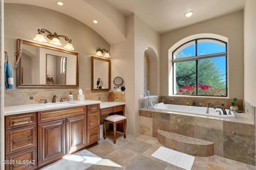
<instances>
[{"instance_id":1,"label":"brown wooden sink vanity cabinet with two doors and drawer stacks","mask_svg":"<svg viewBox=\"0 0 256 170\"><path fill-rule=\"evenodd\" d=\"M32 170L100 140L100 104L5 116L6 170Z\"/></svg>"}]
</instances>

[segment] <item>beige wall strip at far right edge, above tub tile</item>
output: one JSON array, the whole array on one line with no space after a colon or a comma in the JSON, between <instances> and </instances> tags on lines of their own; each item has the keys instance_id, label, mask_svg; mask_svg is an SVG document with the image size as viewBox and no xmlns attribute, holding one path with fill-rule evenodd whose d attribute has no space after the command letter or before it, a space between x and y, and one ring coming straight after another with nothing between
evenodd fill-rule
<instances>
[{"instance_id":1,"label":"beige wall strip at far right edge, above tub tile","mask_svg":"<svg viewBox=\"0 0 256 170\"><path fill-rule=\"evenodd\" d=\"M244 100L256 106L256 1L246 0L244 7Z\"/></svg>"}]
</instances>

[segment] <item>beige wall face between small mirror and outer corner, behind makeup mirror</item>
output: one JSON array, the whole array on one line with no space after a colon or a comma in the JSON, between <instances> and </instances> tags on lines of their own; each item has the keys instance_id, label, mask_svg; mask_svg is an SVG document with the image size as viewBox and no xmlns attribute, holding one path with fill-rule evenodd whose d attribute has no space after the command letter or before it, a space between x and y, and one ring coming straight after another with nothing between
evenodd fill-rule
<instances>
[{"instance_id":1,"label":"beige wall face between small mirror and outer corner, behind makeup mirror","mask_svg":"<svg viewBox=\"0 0 256 170\"><path fill-rule=\"evenodd\" d=\"M111 49L111 79L120 76L126 87L125 117L127 118L127 133L134 134L134 14L126 18L126 40L110 45ZM112 90L114 85L111 83Z\"/></svg>"}]
</instances>

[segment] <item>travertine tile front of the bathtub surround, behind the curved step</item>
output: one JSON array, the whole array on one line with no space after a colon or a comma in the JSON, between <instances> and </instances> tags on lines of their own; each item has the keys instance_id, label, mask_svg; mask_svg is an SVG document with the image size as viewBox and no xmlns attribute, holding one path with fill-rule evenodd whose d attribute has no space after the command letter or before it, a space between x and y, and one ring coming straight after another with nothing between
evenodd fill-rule
<instances>
[{"instance_id":1,"label":"travertine tile front of the bathtub surround, behind the curved step","mask_svg":"<svg viewBox=\"0 0 256 170\"><path fill-rule=\"evenodd\" d=\"M157 137L157 130L214 143L218 156L255 166L255 125L140 109L140 133Z\"/></svg>"}]
</instances>

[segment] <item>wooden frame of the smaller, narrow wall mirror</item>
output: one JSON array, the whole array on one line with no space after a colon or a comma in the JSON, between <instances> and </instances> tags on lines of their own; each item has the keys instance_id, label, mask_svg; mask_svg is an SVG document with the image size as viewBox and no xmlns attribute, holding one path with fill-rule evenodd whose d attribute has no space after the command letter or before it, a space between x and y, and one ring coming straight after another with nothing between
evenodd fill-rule
<instances>
[{"instance_id":1,"label":"wooden frame of the smaller, narrow wall mirror","mask_svg":"<svg viewBox=\"0 0 256 170\"><path fill-rule=\"evenodd\" d=\"M94 88L94 60L100 60L100 61L106 61L108 62L108 88L104 88L104 89L98 89L98 88ZM111 61L108 59L102 59L99 57L94 57L92 56L92 67L91 67L91 89L92 92L106 92L109 91L111 89Z\"/></svg>"}]
</instances>

